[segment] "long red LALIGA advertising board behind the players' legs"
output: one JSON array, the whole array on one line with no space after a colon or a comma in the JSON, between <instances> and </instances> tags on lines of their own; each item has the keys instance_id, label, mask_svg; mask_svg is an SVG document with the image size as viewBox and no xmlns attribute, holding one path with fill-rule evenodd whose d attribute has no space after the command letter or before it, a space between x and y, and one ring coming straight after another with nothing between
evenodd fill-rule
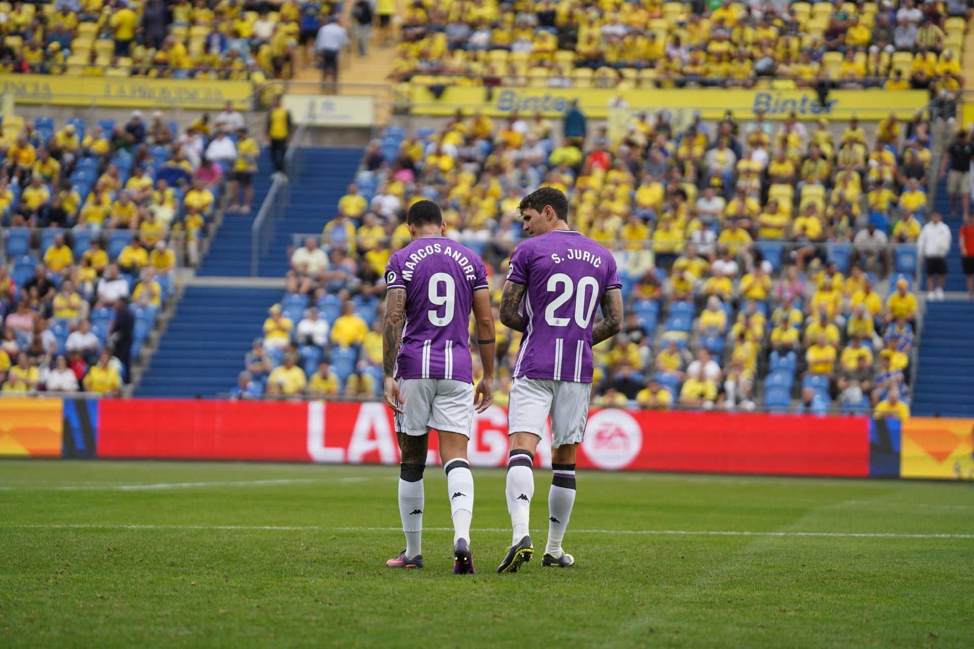
<instances>
[{"instance_id":1,"label":"long red LALIGA advertising board behind the players' legs","mask_svg":"<svg viewBox=\"0 0 974 649\"><path fill-rule=\"evenodd\" d=\"M545 438L549 439L545 433ZM474 418L474 466L504 466L506 412ZM579 466L605 470L868 476L869 419L810 415L593 411ZM102 457L394 464L393 417L381 403L105 401ZM438 463L435 439L430 464ZM547 466L547 439L537 461Z\"/></svg>"}]
</instances>

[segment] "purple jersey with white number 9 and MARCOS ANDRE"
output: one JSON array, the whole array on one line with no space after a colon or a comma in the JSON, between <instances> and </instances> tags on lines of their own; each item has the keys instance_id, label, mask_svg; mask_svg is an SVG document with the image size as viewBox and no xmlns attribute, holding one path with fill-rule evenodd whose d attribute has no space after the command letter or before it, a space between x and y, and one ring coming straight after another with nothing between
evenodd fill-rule
<instances>
[{"instance_id":1,"label":"purple jersey with white number 9 and MARCOS ANDRE","mask_svg":"<svg viewBox=\"0 0 974 649\"><path fill-rule=\"evenodd\" d=\"M480 258L456 241L425 236L390 258L386 288L406 289L406 324L395 358L395 378L472 383L473 291L488 288Z\"/></svg>"}]
</instances>

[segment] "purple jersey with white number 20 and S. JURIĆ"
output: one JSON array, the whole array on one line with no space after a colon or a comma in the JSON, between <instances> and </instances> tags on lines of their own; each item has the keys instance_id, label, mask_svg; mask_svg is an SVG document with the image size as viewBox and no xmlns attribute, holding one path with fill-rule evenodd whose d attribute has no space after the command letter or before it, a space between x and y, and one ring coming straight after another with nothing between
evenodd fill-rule
<instances>
[{"instance_id":1,"label":"purple jersey with white number 20 and S. JURI\u0106","mask_svg":"<svg viewBox=\"0 0 974 649\"><path fill-rule=\"evenodd\" d=\"M507 279L527 287L514 378L592 382L595 309L622 287L612 253L574 230L553 230L517 245Z\"/></svg>"}]
</instances>

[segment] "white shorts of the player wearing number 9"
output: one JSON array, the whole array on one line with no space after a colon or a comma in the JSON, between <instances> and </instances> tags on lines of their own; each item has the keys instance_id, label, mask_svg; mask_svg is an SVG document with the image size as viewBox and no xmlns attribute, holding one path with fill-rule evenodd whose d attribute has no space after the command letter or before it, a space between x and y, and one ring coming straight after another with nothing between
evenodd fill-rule
<instances>
[{"instance_id":1,"label":"white shorts of the player wearing number 9","mask_svg":"<svg viewBox=\"0 0 974 649\"><path fill-rule=\"evenodd\" d=\"M395 415L395 432L426 435L430 430L470 437L473 384L453 379L399 379L405 405Z\"/></svg>"}]
</instances>

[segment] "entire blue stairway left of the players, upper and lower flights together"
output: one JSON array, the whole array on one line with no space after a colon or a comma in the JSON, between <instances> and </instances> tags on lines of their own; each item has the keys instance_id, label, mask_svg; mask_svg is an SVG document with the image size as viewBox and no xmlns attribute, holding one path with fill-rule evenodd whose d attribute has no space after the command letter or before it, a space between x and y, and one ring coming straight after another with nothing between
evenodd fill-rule
<instances>
[{"instance_id":1,"label":"entire blue stairway left of the players, upper and lower flights together","mask_svg":"<svg viewBox=\"0 0 974 649\"><path fill-rule=\"evenodd\" d=\"M267 152L254 176L254 209L249 215L224 216L197 271L201 281L189 283L135 396L213 397L236 384L244 354L261 335L267 308L283 294L282 285L267 288L268 278L282 284L292 234L319 235L334 216L338 199L355 179L361 149L307 148L302 155L301 172L290 179L290 202L261 258L261 278L249 276L250 228L272 182Z\"/></svg>"}]
</instances>

